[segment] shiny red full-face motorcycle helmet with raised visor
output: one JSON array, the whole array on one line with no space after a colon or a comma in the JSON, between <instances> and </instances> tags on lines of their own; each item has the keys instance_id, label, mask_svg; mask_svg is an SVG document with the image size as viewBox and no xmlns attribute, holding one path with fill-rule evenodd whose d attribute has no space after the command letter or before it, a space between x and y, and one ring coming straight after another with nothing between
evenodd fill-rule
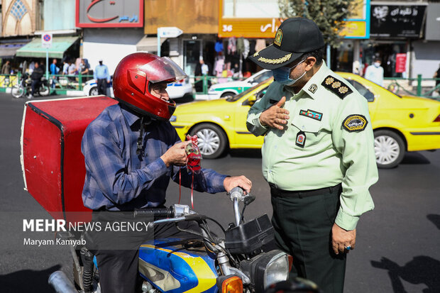
<instances>
[{"instance_id":1,"label":"shiny red full-face motorcycle helmet with raised visor","mask_svg":"<svg viewBox=\"0 0 440 293\"><path fill-rule=\"evenodd\" d=\"M156 82L175 82L187 74L169 57L136 52L123 57L113 75L115 99L145 116L168 121L176 109L175 101L164 101L150 93Z\"/></svg>"}]
</instances>

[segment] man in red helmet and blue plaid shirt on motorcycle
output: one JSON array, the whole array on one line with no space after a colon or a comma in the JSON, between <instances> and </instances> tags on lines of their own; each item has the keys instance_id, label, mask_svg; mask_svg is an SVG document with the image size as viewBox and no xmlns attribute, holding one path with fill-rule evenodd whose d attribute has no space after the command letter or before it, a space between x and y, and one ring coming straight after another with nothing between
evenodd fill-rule
<instances>
[{"instance_id":1,"label":"man in red helmet and blue plaid shirt on motorcycle","mask_svg":"<svg viewBox=\"0 0 440 293\"><path fill-rule=\"evenodd\" d=\"M93 209L92 221L102 221L99 211L133 211L160 208L172 178L200 192L224 192L251 181L244 176L228 177L214 170L187 170L185 147L168 121L176 104L167 94L167 83L186 74L167 57L145 52L128 55L114 72L114 96L119 104L109 106L89 124L82 139L86 179L84 206ZM118 213L106 212L106 221ZM116 217L116 216L115 216ZM176 236L174 225L155 228L155 237ZM131 249L94 250L99 267L101 291L133 292L138 270L137 248L145 233L118 238ZM96 233L95 243L115 241ZM126 246L128 247L128 246Z\"/></svg>"}]
</instances>

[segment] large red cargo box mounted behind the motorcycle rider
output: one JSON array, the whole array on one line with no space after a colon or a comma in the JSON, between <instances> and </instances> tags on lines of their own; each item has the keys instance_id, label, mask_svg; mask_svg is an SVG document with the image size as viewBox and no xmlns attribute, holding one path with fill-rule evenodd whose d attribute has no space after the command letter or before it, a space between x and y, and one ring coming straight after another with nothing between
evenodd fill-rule
<instances>
[{"instance_id":1,"label":"large red cargo box mounted behind the motorcycle rider","mask_svg":"<svg viewBox=\"0 0 440 293\"><path fill-rule=\"evenodd\" d=\"M117 101L106 96L26 103L21 126L25 189L54 219L91 219L81 197L86 173L81 140L89 123L113 104Z\"/></svg>"}]
</instances>

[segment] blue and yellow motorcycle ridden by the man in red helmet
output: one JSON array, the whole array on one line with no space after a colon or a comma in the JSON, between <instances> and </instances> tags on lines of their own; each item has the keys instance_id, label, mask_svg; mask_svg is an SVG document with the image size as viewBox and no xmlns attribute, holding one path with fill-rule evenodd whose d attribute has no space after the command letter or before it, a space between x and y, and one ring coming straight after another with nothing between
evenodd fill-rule
<instances>
[{"instance_id":1,"label":"blue and yellow motorcycle ridden by the man in red helmet","mask_svg":"<svg viewBox=\"0 0 440 293\"><path fill-rule=\"evenodd\" d=\"M229 193L229 198L233 203L235 223L230 223L226 229L215 219L197 214L187 205L133 211L138 219L153 217L154 221L148 223L149 228L160 223L195 221L201 231L197 240L162 238L143 243L139 248L138 273L143 280L139 292L255 293L265 292L271 284L287 280L292 256L281 250L263 252L262 249L274 238L268 215L245 221L246 206L255 197L236 187ZM220 226L224 236L218 237L211 232L207 220ZM87 235L83 233L81 238L84 237ZM71 246L71 252L75 285L64 272L53 272L49 283L55 292L101 292L99 267L87 244Z\"/></svg>"}]
</instances>

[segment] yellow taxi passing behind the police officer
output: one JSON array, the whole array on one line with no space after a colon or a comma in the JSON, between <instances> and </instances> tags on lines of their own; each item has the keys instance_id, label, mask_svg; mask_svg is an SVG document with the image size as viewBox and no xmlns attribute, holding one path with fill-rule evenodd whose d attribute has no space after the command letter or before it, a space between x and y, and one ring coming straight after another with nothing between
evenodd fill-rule
<instances>
[{"instance_id":1,"label":"yellow taxi passing behind the police officer","mask_svg":"<svg viewBox=\"0 0 440 293\"><path fill-rule=\"evenodd\" d=\"M397 166L405 151L440 148L440 102L398 96L356 74L338 72L368 100L378 167ZM204 158L219 157L227 148L260 148L263 137L246 128L246 116L273 82L267 79L237 96L194 101L177 106L170 121L182 140L197 134Z\"/></svg>"}]
</instances>

